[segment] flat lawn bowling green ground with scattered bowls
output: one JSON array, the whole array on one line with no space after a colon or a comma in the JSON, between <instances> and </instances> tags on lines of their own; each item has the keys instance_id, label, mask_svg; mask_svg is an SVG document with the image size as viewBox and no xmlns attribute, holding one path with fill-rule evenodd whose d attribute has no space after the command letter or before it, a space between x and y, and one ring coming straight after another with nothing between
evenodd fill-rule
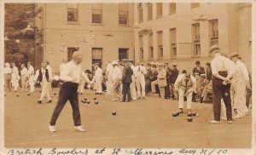
<instances>
[{"instance_id":1,"label":"flat lawn bowling green ground with scattered bowls","mask_svg":"<svg viewBox=\"0 0 256 155\"><path fill-rule=\"evenodd\" d=\"M58 94L58 89L53 89ZM15 95L19 94L19 97ZM56 133L48 129L49 119L58 95L52 103L37 104L39 90L30 96L26 92L7 93L4 97L6 147L218 147L247 148L251 146L251 112L247 118L228 124L208 123L212 120L212 105L192 105L199 114L188 122L186 110L178 117L177 101L147 97L131 102L110 101L111 95L94 95L85 90L79 95L82 125L86 132L73 129L72 107L67 102L56 122ZM96 97L100 104L95 105ZM80 100L90 100L87 105ZM105 102L103 102L105 100ZM116 116L112 112L116 112ZM237 141L239 140L239 141Z\"/></svg>"}]
</instances>

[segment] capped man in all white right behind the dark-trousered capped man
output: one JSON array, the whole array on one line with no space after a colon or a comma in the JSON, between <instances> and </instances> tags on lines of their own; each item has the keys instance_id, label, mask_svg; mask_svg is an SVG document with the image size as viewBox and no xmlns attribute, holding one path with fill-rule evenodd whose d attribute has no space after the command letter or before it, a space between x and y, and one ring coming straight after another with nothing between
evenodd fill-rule
<instances>
[{"instance_id":1,"label":"capped man in all white right behind the dark-trousered capped man","mask_svg":"<svg viewBox=\"0 0 256 155\"><path fill-rule=\"evenodd\" d=\"M234 118L243 118L246 115L246 90L251 89L249 82L249 73L247 71L247 66L244 65L241 60L239 60L239 55L233 53L230 55L230 59L235 62L237 72L234 74L231 83L234 88L234 105L236 106L237 114Z\"/></svg>"}]
</instances>

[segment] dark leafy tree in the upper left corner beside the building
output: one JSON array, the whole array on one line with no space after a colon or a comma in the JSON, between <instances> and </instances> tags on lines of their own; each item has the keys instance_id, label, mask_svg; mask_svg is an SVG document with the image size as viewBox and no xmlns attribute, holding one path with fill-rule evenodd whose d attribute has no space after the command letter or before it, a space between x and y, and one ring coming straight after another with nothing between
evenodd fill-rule
<instances>
[{"instance_id":1,"label":"dark leafy tree in the upper left corner beside the building","mask_svg":"<svg viewBox=\"0 0 256 155\"><path fill-rule=\"evenodd\" d=\"M4 7L4 33L10 39L5 42L5 60L9 62L15 61L16 63L25 62L27 61L27 55L34 54L20 48L22 46L19 43L15 43L15 40L24 36L24 29L27 25L31 25L35 31L29 37L32 37L36 46L42 44L43 32L39 31L34 24L35 18L40 18L42 8L38 7L36 3L5 3Z\"/></svg>"}]
</instances>

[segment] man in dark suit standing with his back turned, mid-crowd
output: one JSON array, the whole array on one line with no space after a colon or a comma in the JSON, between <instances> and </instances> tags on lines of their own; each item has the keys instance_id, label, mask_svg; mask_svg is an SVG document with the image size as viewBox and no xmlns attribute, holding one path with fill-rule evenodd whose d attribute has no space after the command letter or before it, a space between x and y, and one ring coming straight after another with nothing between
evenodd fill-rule
<instances>
[{"instance_id":1,"label":"man in dark suit standing with his back turned, mid-crowd","mask_svg":"<svg viewBox=\"0 0 256 155\"><path fill-rule=\"evenodd\" d=\"M131 76L133 75L133 71L131 69L131 63L129 63L128 60L125 60L125 67L123 69L123 75L122 75L122 83L123 83L123 100L122 102L126 101L126 96L127 96L127 101L131 101Z\"/></svg>"}]
</instances>

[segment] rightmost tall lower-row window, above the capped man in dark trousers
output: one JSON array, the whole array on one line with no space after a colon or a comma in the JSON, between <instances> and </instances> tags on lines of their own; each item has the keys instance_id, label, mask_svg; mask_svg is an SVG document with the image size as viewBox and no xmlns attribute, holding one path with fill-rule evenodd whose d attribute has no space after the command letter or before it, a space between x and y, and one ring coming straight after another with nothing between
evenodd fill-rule
<instances>
[{"instance_id":1,"label":"rightmost tall lower-row window, above the capped man in dark trousers","mask_svg":"<svg viewBox=\"0 0 256 155\"><path fill-rule=\"evenodd\" d=\"M210 20L210 46L218 45L218 20Z\"/></svg>"}]
</instances>

